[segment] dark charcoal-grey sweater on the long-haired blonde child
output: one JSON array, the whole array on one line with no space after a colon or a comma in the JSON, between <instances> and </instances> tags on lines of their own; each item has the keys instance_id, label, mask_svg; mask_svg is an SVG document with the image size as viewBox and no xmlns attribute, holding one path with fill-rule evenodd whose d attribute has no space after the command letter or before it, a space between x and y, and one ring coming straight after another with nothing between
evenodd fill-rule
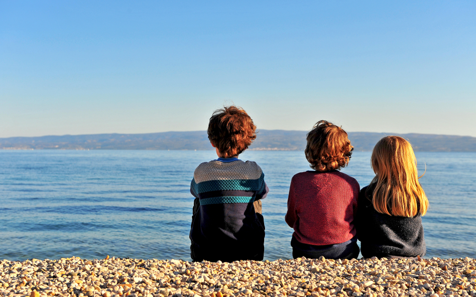
<instances>
[{"instance_id":1,"label":"dark charcoal-grey sweater on the long-haired blonde child","mask_svg":"<svg viewBox=\"0 0 476 297\"><path fill-rule=\"evenodd\" d=\"M371 184L359 194L355 228L362 255L365 258L424 256L426 244L421 216L390 216L377 212L372 204L373 189Z\"/></svg>"}]
</instances>

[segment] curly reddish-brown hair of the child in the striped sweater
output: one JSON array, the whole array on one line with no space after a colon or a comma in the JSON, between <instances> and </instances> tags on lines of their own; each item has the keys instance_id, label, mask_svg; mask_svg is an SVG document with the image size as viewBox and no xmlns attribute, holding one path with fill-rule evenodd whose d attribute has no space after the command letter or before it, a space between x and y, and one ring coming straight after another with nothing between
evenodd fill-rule
<instances>
[{"instance_id":1,"label":"curly reddish-brown hair of the child in the striped sweater","mask_svg":"<svg viewBox=\"0 0 476 297\"><path fill-rule=\"evenodd\" d=\"M256 139L256 126L241 107L217 109L208 123L208 139L223 158L241 154Z\"/></svg>"}]
</instances>

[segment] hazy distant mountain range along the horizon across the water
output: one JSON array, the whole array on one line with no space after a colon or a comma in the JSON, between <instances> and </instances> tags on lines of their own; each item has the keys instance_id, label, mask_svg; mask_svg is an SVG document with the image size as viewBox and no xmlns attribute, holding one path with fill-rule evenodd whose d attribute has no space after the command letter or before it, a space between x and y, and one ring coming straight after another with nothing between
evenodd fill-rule
<instances>
[{"instance_id":1,"label":"hazy distant mountain range along the horizon across the water","mask_svg":"<svg viewBox=\"0 0 476 297\"><path fill-rule=\"evenodd\" d=\"M306 131L260 130L252 150L304 150ZM476 137L435 134L349 132L355 151L372 151L380 138L399 135L415 151L476 152ZM0 149L211 150L206 131L92 134L0 138Z\"/></svg>"}]
</instances>

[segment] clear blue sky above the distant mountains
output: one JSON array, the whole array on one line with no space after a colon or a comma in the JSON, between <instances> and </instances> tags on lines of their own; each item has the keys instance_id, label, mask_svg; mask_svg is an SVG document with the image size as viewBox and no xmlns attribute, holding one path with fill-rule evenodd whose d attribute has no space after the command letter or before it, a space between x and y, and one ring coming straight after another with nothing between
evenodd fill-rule
<instances>
[{"instance_id":1,"label":"clear blue sky above the distant mountains","mask_svg":"<svg viewBox=\"0 0 476 297\"><path fill-rule=\"evenodd\" d=\"M476 136L476 2L0 0L0 137L258 128Z\"/></svg>"}]
</instances>

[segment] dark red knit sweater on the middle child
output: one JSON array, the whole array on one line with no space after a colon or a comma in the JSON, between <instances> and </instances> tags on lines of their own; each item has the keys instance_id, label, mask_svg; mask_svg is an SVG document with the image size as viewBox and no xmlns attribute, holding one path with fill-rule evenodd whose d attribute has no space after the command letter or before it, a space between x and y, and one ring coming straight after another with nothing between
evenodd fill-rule
<instances>
[{"instance_id":1,"label":"dark red knit sweater on the middle child","mask_svg":"<svg viewBox=\"0 0 476 297\"><path fill-rule=\"evenodd\" d=\"M337 170L306 171L293 176L286 223L301 243L342 243L355 236L359 183Z\"/></svg>"}]
</instances>

